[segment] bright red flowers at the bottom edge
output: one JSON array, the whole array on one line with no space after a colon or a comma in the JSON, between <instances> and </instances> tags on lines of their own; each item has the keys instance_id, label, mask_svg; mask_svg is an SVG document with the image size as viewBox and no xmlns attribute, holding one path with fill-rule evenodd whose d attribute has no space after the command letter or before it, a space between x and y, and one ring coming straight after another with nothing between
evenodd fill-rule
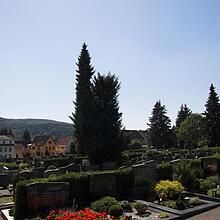
<instances>
[{"instance_id":1,"label":"bright red flowers at the bottom edge","mask_svg":"<svg viewBox=\"0 0 220 220\"><path fill-rule=\"evenodd\" d=\"M78 212L71 212L71 211L51 211L50 214L47 216L46 220L114 220L113 216L109 216L106 212L94 212L89 208L86 208L85 211L80 210Z\"/></svg>"}]
</instances>

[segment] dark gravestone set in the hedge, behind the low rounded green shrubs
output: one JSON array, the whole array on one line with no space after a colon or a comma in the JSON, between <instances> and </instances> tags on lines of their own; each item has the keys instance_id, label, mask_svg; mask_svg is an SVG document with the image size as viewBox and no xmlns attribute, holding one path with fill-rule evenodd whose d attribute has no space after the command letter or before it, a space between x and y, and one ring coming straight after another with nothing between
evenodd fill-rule
<instances>
[{"instance_id":1,"label":"dark gravestone set in the hedge, behind the low rounded green shrubs","mask_svg":"<svg viewBox=\"0 0 220 220\"><path fill-rule=\"evenodd\" d=\"M104 196L116 194L116 178L114 173L96 173L90 176L90 193Z\"/></svg>"}]
</instances>

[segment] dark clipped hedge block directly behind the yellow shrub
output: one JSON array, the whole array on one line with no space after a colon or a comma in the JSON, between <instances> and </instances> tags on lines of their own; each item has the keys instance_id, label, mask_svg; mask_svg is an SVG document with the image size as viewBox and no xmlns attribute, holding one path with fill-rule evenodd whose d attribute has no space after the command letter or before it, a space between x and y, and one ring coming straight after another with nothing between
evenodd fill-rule
<instances>
[{"instance_id":1,"label":"dark clipped hedge block directly behind the yellow shrub","mask_svg":"<svg viewBox=\"0 0 220 220\"><path fill-rule=\"evenodd\" d=\"M172 180L173 170L169 162L164 162L156 166L157 180Z\"/></svg>"}]
</instances>

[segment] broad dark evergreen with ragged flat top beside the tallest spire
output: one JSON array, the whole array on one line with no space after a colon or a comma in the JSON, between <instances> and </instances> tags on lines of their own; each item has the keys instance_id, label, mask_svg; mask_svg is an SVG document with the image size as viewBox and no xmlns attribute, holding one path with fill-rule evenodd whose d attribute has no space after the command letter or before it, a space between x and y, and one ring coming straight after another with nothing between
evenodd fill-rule
<instances>
[{"instance_id":1,"label":"broad dark evergreen with ragged flat top beside the tallest spire","mask_svg":"<svg viewBox=\"0 0 220 220\"><path fill-rule=\"evenodd\" d=\"M94 79L95 145L89 152L93 163L117 161L121 156L122 113L119 111L118 92L120 83L115 75L100 75Z\"/></svg>"}]
</instances>

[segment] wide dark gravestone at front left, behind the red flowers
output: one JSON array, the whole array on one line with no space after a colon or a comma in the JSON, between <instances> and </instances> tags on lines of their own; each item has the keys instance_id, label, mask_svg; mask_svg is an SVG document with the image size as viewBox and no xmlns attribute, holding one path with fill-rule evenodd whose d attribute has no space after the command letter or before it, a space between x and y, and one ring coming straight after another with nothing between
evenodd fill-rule
<instances>
[{"instance_id":1,"label":"wide dark gravestone at front left, behind the red flowers","mask_svg":"<svg viewBox=\"0 0 220 220\"><path fill-rule=\"evenodd\" d=\"M27 185L28 209L35 211L63 208L69 200L69 183L31 183Z\"/></svg>"}]
</instances>

